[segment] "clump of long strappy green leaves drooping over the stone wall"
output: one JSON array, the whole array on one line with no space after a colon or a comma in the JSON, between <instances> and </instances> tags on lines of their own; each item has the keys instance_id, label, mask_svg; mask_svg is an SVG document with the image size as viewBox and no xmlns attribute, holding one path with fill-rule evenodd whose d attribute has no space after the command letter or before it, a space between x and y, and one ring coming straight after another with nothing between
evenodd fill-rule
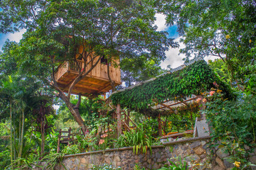
<instances>
[{"instance_id":1,"label":"clump of long strappy green leaves drooping over the stone wall","mask_svg":"<svg viewBox=\"0 0 256 170\"><path fill-rule=\"evenodd\" d=\"M137 130L131 130L121 135L116 142L116 147L133 147L134 153L138 154L139 150L142 153L147 153L147 149L151 152L151 145L155 142L151 135L146 134L143 126ZM157 140L156 140L157 142Z\"/></svg>"}]
</instances>

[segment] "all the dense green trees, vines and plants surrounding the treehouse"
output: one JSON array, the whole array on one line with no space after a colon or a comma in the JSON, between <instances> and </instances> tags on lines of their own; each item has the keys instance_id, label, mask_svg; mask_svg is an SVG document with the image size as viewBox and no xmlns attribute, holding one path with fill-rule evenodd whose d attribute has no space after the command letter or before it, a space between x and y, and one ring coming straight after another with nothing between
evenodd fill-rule
<instances>
[{"instance_id":1,"label":"all the dense green trees, vines and plants surrounding the treehouse","mask_svg":"<svg viewBox=\"0 0 256 170\"><path fill-rule=\"evenodd\" d=\"M212 128L209 147L223 147L234 169L250 169L256 140L254 0L3 0L0 8L1 33L26 28L20 42L7 40L0 52L0 169L33 169L40 162L53 169L64 154L114 147L150 152L159 135L191 130L200 114L197 104L177 108L176 114L159 114L149 106L191 94L207 101L202 113ZM220 59L156 77L164 72L159 64L165 51L178 47L165 31L156 30L156 13L166 15L168 26L177 24L186 63L192 57ZM109 61L119 57L127 86L156 77L111 96L138 127L119 138L110 99L73 96L73 86L65 94L55 83L58 64L77 55L76 46L85 40L87 56L95 52ZM74 84L87 74L80 72ZM73 129L74 141L60 145L57 153L58 130L67 128ZM180 161L163 169L174 168L187 166Z\"/></svg>"}]
</instances>

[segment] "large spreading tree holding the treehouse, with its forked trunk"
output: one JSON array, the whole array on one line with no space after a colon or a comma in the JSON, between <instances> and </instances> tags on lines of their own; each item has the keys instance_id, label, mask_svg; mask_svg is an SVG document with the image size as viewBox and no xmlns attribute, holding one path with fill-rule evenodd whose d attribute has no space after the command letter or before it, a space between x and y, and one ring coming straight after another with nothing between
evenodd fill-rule
<instances>
[{"instance_id":1,"label":"large spreading tree holding the treehouse, with its forked trunk","mask_svg":"<svg viewBox=\"0 0 256 170\"><path fill-rule=\"evenodd\" d=\"M21 72L26 72L51 84L85 132L79 113L80 100L70 102L75 84L84 78L100 62L119 59L125 71L133 70L127 65L136 63L138 76L146 68L159 73L159 62L166 58L165 51L178 45L167 33L157 31L154 26L154 1L1 1L1 32L14 32L21 28L27 31L11 55L18 59ZM78 47L82 45L82 51ZM58 87L54 77L58 64L75 60L79 55L84 67L92 64L85 72L80 68L70 84L68 94ZM100 56L100 57L97 57ZM137 62L140 61L140 62ZM126 70L125 70L126 69ZM142 79L149 77L149 71ZM109 77L110 78L110 77ZM137 79L139 80L139 79ZM112 84L112 80L110 79ZM112 86L114 89L114 86Z\"/></svg>"}]
</instances>

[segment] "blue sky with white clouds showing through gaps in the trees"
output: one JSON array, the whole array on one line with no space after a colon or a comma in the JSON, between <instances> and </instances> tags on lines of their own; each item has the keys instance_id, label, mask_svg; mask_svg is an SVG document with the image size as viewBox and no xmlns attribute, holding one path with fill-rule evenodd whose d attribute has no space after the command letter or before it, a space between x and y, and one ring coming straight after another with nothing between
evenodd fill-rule
<instances>
[{"instance_id":1,"label":"blue sky with white clouds showing through gaps in the trees","mask_svg":"<svg viewBox=\"0 0 256 170\"><path fill-rule=\"evenodd\" d=\"M155 22L156 26L158 26L157 30L165 30L169 33L169 38L175 38L175 41L178 42L181 37L178 37L178 33L177 33L177 26L171 26L168 27L165 25L165 16L157 13L156 14L156 22ZM9 39L11 41L16 41L18 42L19 40L21 40L22 38L22 34L25 33L26 30L21 30L18 33L9 33L9 34L0 34L0 50L4 45L4 42ZM183 45L183 43L179 42L180 47L179 48L171 48L169 51L166 51L166 60L164 60L164 62L161 62L161 67L166 69L168 65L171 65L171 68L176 68L178 66L180 66L181 64L183 64L183 58L185 57L185 55L181 54L179 55L179 50L180 48L185 47L185 45ZM208 58L206 60L209 60L212 58Z\"/></svg>"}]
</instances>

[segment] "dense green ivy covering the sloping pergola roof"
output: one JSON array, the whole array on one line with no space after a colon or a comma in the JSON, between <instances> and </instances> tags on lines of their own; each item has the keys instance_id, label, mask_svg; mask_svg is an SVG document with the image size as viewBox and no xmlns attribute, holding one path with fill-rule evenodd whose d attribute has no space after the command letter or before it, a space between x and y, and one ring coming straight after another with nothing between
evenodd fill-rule
<instances>
[{"instance_id":1,"label":"dense green ivy covering the sloping pergola roof","mask_svg":"<svg viewBox=\"0 0 256 170\"><path fill-rule=\"evenodd\" d=\"M221 81L204 60L199 60L176 72L156 77L153 81L117 91L110 98L114 105L119 103L122 108L142 111L166 100L177 101L184 96L210 91L211 88L216 88L213 82L218 84L218 89L223 91L225 97L232 97L230 86Z\"/></svg>"}]
</instances>

